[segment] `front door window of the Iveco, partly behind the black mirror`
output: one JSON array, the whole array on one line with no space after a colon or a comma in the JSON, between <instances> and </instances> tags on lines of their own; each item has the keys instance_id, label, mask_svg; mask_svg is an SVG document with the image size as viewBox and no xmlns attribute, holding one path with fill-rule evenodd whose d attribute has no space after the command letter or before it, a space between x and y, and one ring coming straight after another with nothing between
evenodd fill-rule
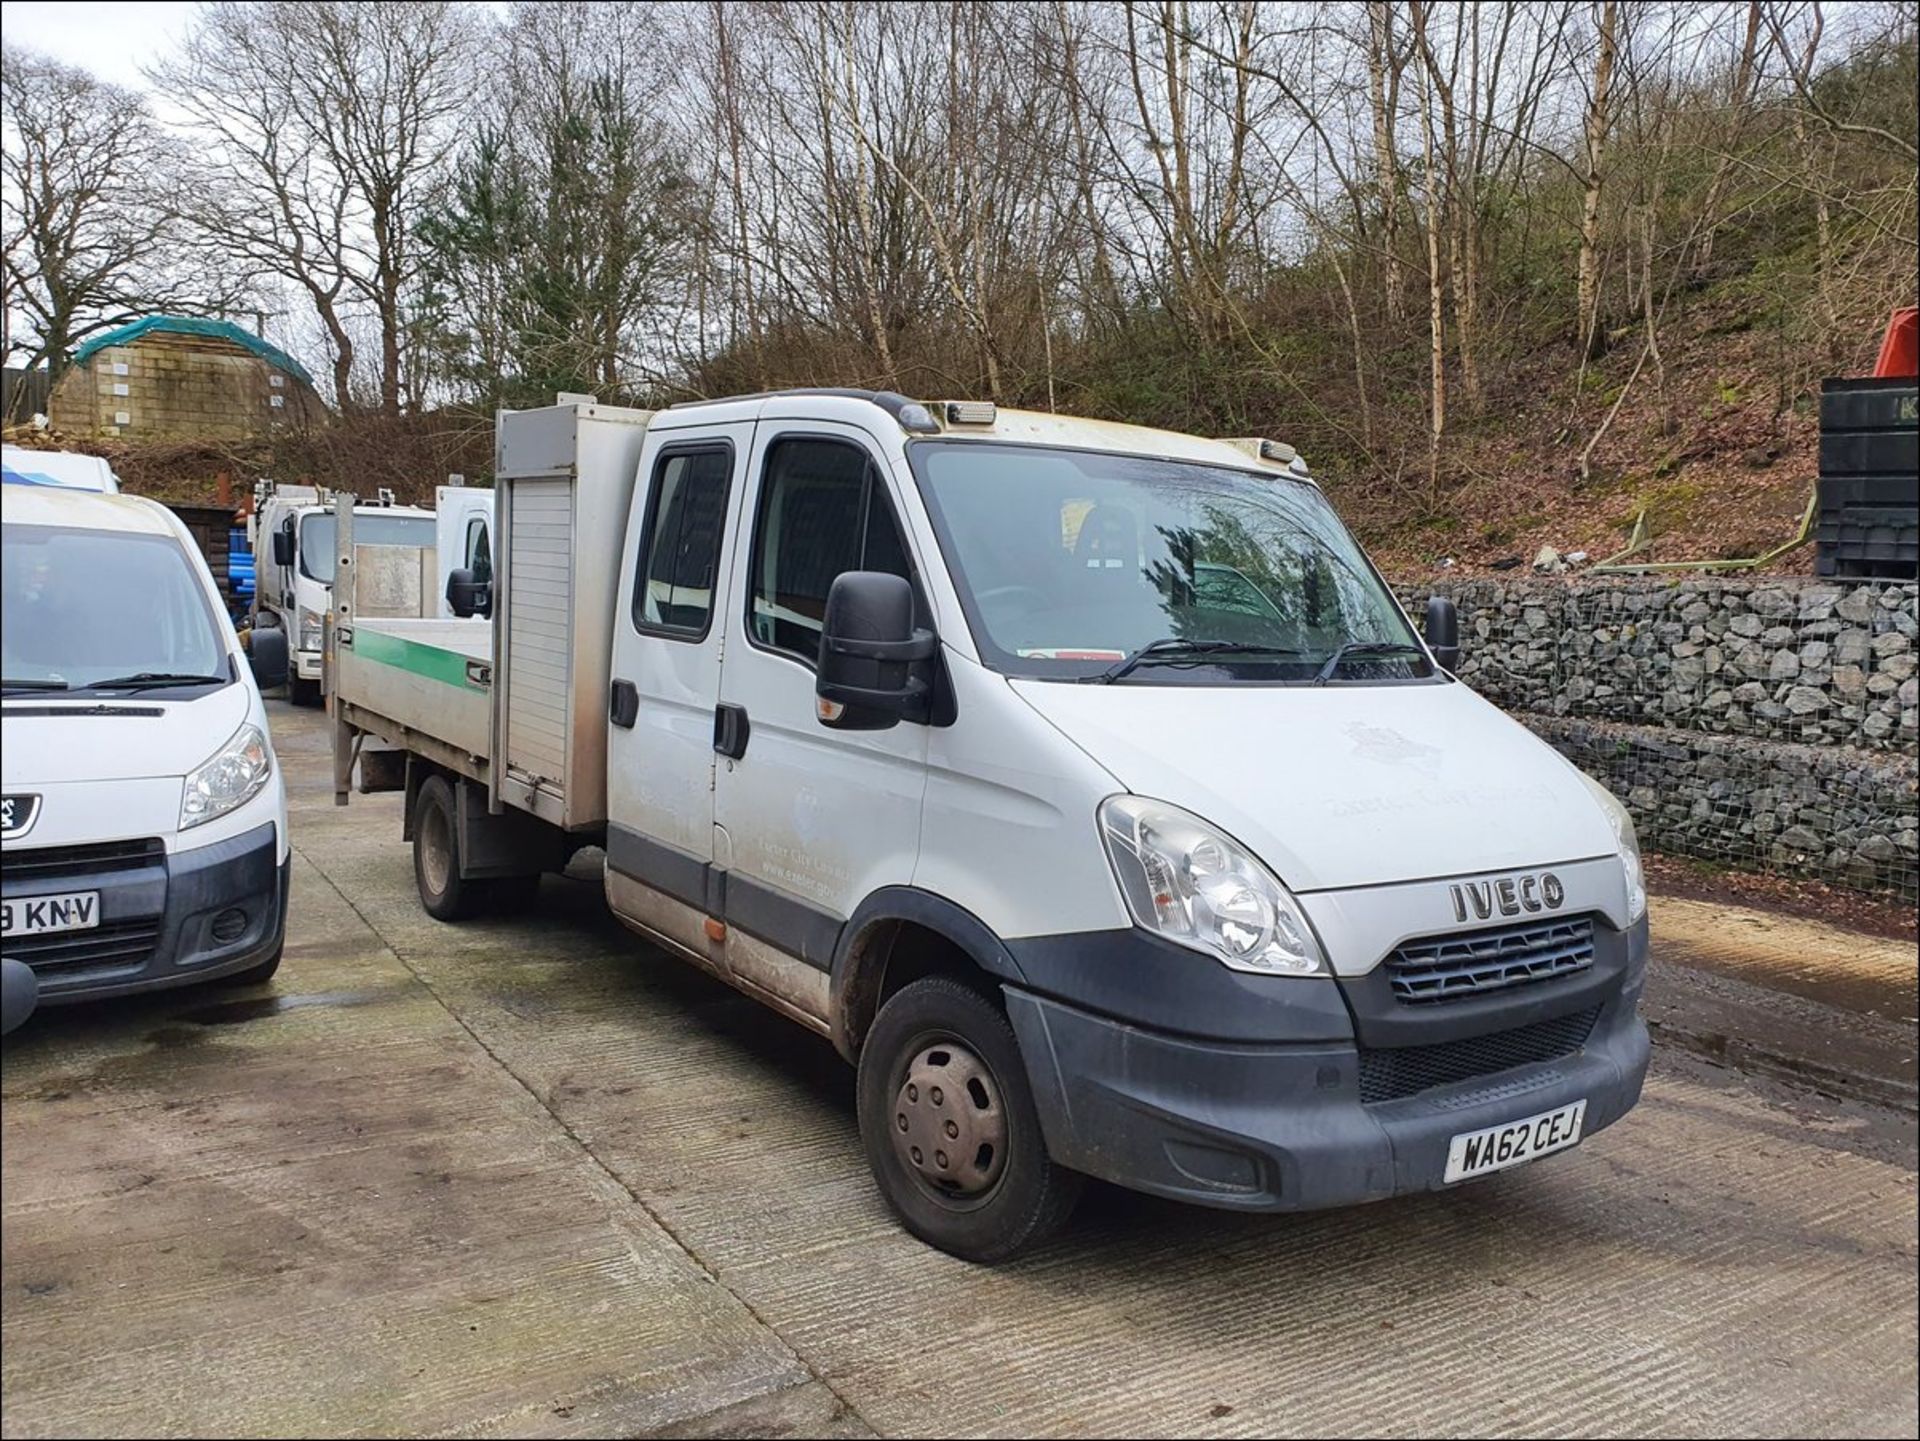
<instances>
[{"instance_id":1,"label":"front door window of the Iveco, partly behind the black mirror","mask_svg":"<svg viewBox=\"0 0 1920 1441\"><path fill-rule=\"evenodd\" d=\"M843 570L912 579L879 472L858 445L778 441L766 453L753 526L747 633L762 647L816 664L828 589Z\"/></svg>"}]
</instances>

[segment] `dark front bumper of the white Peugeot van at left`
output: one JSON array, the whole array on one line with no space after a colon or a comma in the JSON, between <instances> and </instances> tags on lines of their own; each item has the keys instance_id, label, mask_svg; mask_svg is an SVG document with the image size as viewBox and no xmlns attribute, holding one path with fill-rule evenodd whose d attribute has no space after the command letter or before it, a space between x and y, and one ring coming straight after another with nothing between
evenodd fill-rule
<instances>
[{"instance_id":1,"label":"dark front bumper of the white Peugeot van at left","mask_svg":"<svg viewBox=\"0 0 1920 1441\"><path fill-rule=\"evenodd\" d=\"M138 844L8 852L8 900L100 892L96 929L0 942L33 967L42 1005L211 980L280 948L292 867L276 860L273 821L194 850L138 854Z\"/></svg>"}]
</instances>

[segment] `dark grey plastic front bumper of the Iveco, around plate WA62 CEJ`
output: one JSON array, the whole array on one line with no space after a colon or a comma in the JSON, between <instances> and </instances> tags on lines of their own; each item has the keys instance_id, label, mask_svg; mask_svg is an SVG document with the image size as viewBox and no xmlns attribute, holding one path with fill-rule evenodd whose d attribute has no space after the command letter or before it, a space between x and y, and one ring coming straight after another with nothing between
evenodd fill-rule
<instances>
[{"instance_id":1,"label":"dark grey plastic front bumper of the Iveco, around plate WA62 CEJ","mask_svg":"<svg viewBox=\"0 0 1920 1441\"><path fill-rule=\"evenodd\" d=\"M1626 1115L1647 1071L1647 1028L1636 1015L1645 923L1615 938L1619 963L1599 994L1588 982L1565 1002L1578 1009L1559 1017L1572 1023L1594 1013L1584 1044L1553 1059L1371 1103L1361 1099L1363 1073L1382 1048L1356 1042L1352 1030L1338 1040L1315 1034L1273 1044L1181 1036L1018 986L1006 988L1006 1007L1056 1161L1200 1205L1309 1211L1440 1190L1448 1144L1467 1130L1578 1099L1586 1099L1582 1138ZM1338 994L1332 980L1279 984ZM1553 988L1519 988L1515 1013L1555 1009ZM1348 1005L1356 1005L1354 1021L1365 1036L1365 998L1348 996ZM1325 1007L1315 1002L1315 1009ZM1480 1019L1490 1027L1480 1040L1517 1034L1498 1028L1500 1017ZM1311 1030L1325 1027L1315 1023ZM1415 1038L1394 1038L1396 1050L1409 1044Z\"/></svg>"}]
</instances>

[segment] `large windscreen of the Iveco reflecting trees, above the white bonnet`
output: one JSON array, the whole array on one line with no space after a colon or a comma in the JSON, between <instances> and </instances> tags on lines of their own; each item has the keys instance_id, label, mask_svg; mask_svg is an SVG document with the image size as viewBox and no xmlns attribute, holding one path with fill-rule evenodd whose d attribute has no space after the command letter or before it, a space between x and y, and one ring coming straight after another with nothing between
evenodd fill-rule
<instances>
[{"instance_id":1,"label":"large windscreen of the Iveco reflecting trees, above the white bonnet","mask_svg":"<svg viewBox=\"0 0 1920 1441\"><path fill-rule=\"evenodd\" d=\"M1329 664L1340 681L1434 673L1317 485L1033 445L908 453L981 656L1000 672L1089 679L1154 647L1127 683L1306 683ZM1356 643L1405 652L1340 656Z\"/></svg>"}]
</instances>

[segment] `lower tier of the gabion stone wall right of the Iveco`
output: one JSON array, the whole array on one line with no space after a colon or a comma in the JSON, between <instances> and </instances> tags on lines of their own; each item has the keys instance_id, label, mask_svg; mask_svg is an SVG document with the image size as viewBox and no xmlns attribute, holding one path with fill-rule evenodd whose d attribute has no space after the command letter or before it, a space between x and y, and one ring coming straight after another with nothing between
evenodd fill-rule
<instances>
[{"instance_id":1,"label":"lower tier of the gabion stone wall right of the Iveco","mask_svg":"<svg viewBox=\"0 0 1920 1441\"><path fill-rule=\"evenodd\" d=\"M1920 900L1912 760L1523 716L1613 791L1649 850Z\"/></svg>"}]
</instances>

